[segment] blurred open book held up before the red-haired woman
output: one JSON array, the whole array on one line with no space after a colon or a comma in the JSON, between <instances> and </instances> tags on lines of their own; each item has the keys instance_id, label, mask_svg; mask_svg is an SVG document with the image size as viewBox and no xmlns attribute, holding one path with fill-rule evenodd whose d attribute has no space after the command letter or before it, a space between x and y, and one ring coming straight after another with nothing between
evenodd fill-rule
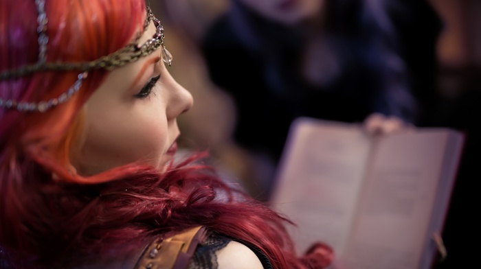
<instances>
[{"instance_id":1,"label":"blurred open book held up before the red-haired woman","mask_svg":"<svg viewBox=\"0 0 481 269\"><path fill-rule=\"evenodd\" d=\"M335 268L430 268L464 140L447 128L370 137L357 124L297 119L271 205L298 224L299 254L322 241Z\"/></svg>"}]
</instances>

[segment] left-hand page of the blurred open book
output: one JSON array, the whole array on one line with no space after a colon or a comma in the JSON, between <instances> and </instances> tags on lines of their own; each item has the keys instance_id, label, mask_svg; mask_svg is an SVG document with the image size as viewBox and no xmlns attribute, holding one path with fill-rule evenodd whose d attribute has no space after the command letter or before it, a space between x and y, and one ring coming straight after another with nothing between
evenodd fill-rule
<instances>
[{"instance_id":1,"label":"left-hand page of the blurred open book","mask_svg":"<svg viewBox=\"0 0 481 269\"><path fill-rule=\"evenodd\" d=\"M271 206L297 227L288 227L298 254L313 243L344 250L370 139L352 124L298 119L280 164Z\"/></svg>"}]
</instances>

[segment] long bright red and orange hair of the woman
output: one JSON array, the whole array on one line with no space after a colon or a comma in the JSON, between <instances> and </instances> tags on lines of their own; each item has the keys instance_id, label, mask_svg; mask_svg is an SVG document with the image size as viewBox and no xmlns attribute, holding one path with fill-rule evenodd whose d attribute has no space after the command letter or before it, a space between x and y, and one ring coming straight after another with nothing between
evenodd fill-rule
<instances>
[{"instance_id":1,"label":"long bright red and orange hair of the woman","mask_svg":"<svg viewBox=\"0 0 481 269\"><path fill-rule=\"evenodd\" d=\"M47 61L110 54L129 43L146 16L143 0L45 2ZM36 17L31 0L0 2L1 71L36 62ZM43 72L1 81L0 97L48 100L76 75ZM303 268L317 259L297 259L284 229L288 221L230 189L198 156L166 173L131 164L90 178L71 174L69 148L82 128L82 105L106 75L90 72L76 95L46 113L0 110L0 258L3 253L19 268L65 266L138 249L155 235L200 224L256 246L274 268Z\"/></svg>"}]
</instances>

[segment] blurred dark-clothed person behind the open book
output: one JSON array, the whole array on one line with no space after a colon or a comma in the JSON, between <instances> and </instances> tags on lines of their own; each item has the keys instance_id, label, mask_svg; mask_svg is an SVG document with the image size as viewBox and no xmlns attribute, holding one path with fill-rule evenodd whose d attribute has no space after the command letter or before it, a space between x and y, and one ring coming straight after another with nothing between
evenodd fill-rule
<instances>
[{"instance_id":1,"label":"blurred dark-clothed person behind the open book","mask_svg":"<svg viewBox=\"0 0 481 269\"><path fill-rule=\"evenodd\" d=\"M418 0L232 0L200 40L210 78L236 106L234 140L269 198L300 116L421 126L434 95L441 21Z\"/></svg>"}]
</instances>

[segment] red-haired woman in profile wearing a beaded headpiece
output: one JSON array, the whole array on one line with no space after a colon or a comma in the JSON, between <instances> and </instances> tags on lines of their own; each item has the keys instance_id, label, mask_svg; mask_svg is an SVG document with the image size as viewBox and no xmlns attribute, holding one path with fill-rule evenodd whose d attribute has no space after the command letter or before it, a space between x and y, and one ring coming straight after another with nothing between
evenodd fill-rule
<instances>
[{"instance_id":1,"label":"red-haired woman in profile wearing a beaded headpiece","mask_svg":"<svg viewBox=\"0 0 481 269\"><path fill-rule=\"evenodd\" d=\"M192 97L144 1L4 0L0 12L0 266L157 268L184 231L195 252L162 256L172 266L326 265L322 247L295 257L288 221L195 156L174 164Z\"/></svg>"}]
</instances>

